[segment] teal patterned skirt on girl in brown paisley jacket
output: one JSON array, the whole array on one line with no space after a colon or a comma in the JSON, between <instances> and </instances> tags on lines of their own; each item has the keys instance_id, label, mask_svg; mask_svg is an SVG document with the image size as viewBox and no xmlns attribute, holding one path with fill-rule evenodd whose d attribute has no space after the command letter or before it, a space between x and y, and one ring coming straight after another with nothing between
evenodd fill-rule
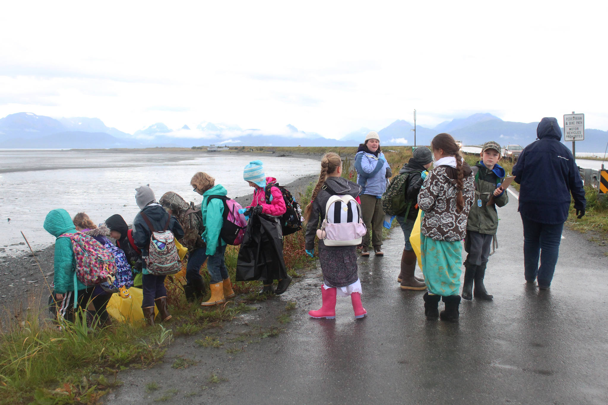
<instances>
[{"instance_id":1,"label":"teal patterned skirt on girl in brown paisley jacket","mask_svg":"<svg viewBox=\"0 0 608 405\"><path fill-rule=\"evenodd\" d=\"M460 266L462 244L460 240L447 242L420 234L422 273L429 293L449 296L460 294Z\"/></svg>"}]
</instances>

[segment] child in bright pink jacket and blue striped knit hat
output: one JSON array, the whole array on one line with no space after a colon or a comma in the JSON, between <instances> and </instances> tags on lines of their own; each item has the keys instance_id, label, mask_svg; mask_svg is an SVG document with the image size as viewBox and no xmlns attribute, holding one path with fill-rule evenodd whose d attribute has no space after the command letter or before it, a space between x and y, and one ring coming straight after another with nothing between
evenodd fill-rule
<instances>
[{"instance_id":1,"label":"child in bright pink jacket and blue striped knit hat","mask_svg":"<svg viewBox=\"0 0 608 405\"><path fill-rule=\"evenodd\" d=\"M266 217L274 219L278 234L283 235L282 226L279 217L286 213L287 207L283 199L283 193L278 187L272 186L277 182L274 177L266 177L264 167L260 160L249 162L243 171L243 179L254 188L254 199L251 204L245 208L244 214L249 217L253 214L262 214ZM273 260L283 260L283 257L273 257ZM275 293L283 294L289 284L291 277L286 273L285 264L277 263L278 270L276 274L268 274L264 280L264 288L260 294ZM278 280L277 289L274 289L274 280Z\"/></svg>"}]
</instances>

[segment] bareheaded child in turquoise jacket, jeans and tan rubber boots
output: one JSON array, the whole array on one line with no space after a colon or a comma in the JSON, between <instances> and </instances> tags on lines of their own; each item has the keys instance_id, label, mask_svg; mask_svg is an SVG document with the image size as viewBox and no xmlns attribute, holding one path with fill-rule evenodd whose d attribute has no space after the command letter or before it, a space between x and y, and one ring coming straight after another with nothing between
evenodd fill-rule
<instances>
[{"instance_id":1,"label":"bareheaded child in turquoise jacket, jeans and tan rubber boots","mask_svg":"<svg viewBox=\"0 0 608 405\"><path fill-rule=\"evenodd\" d=\"M219 237L219 231L224 224L224 202L222 199L210 199L210 196L226 196L228 193L223 185L215 184L215 179L209 174L198 172L190 180L194 191L202 196L201 214L202 223L205 226L201 237L207 243L206 256L201 264L207 260L207 270L211 277L209 289L211 297L209 301L202 302L202 306L210 306L226 302L236 294L232 291L232 283L224 261L226 253L226 242Z\"/></svg>"}]
</instances>

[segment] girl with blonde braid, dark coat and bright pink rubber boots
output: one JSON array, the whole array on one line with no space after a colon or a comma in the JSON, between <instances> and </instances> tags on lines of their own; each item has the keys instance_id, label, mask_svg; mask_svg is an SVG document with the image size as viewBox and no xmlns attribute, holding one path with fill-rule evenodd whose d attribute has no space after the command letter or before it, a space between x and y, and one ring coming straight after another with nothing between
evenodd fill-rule
<instances>
[{"instance_id":1,"label":"girl with blonde braid, dark coat and bright pink rubber boots","mask_svg":"<svg viewBox=\"0 0 608 405\"><path fill-rule=\"evenodd\" d=\"M326 217L326 204L331 196L351 196L355 199L361 192L361 186L350 180L344 179L342 175L342 160L340 156L334 152L326 153L321 160L321 173L319 174L319 182L314 188L313 199L306 206L304 219L308 222L306 225L306 253L313 257L314 255L314 237L318 235L317 228L319 219L323 220ZM337 219L342 216L343 220L350 222L358 222L361 218L359 205L352 199L350 202L343 204L338 201L341 209L333 209L331 205L332 217ZM365 226L361 221L363 232ZM356 239L357 235L353 235L351 239ZM347 240L350 240L347 238ZM360 240L360 239L359 239ZM329 243L329 242L328 242ZM323 305L319 310L309 311L308 315L313 318L336 318L336 296L349 296L353 302L353 310L355 318L363 318L367 311L361 304L361 281L357 274L357 253L356 245L328 246L319 239L319 260L321 262L321 271L323 273L323 285L321 286L321 295Z\"/></svg>"}]
</instances>

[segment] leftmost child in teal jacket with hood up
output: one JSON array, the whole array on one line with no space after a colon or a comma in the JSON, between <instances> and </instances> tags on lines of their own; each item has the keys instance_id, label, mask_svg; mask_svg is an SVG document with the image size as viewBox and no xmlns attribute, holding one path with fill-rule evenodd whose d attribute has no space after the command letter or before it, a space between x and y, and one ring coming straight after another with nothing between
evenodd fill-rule
<instances>
[{"instance_id":1,"label":"leftmost child in teal jacket with hood up","mask_svg":"<svg viewBox=\"0 0 608 405\"><path fill-rule=\"evenodd\" d=\"M80 280L76 279L74 288L74 273L76 271L76 258L72 249L72 240L69 237L59 237L61 234L76 233L76 227L72 217L65 209L53 209L44 219L44 229L55 236L55 298L59 315L67 321L74 322L74 290L78 291L78 306L86 311L91 294L95 287L86 287ZM95 303L93 303L95 305ZM100 312L105 308L97 308ZM92 316L92 314L90 314ZM89 318L89 315L87 315ZM89 323L92 319L88 319Z\"/></svg>"}]
</instances>

